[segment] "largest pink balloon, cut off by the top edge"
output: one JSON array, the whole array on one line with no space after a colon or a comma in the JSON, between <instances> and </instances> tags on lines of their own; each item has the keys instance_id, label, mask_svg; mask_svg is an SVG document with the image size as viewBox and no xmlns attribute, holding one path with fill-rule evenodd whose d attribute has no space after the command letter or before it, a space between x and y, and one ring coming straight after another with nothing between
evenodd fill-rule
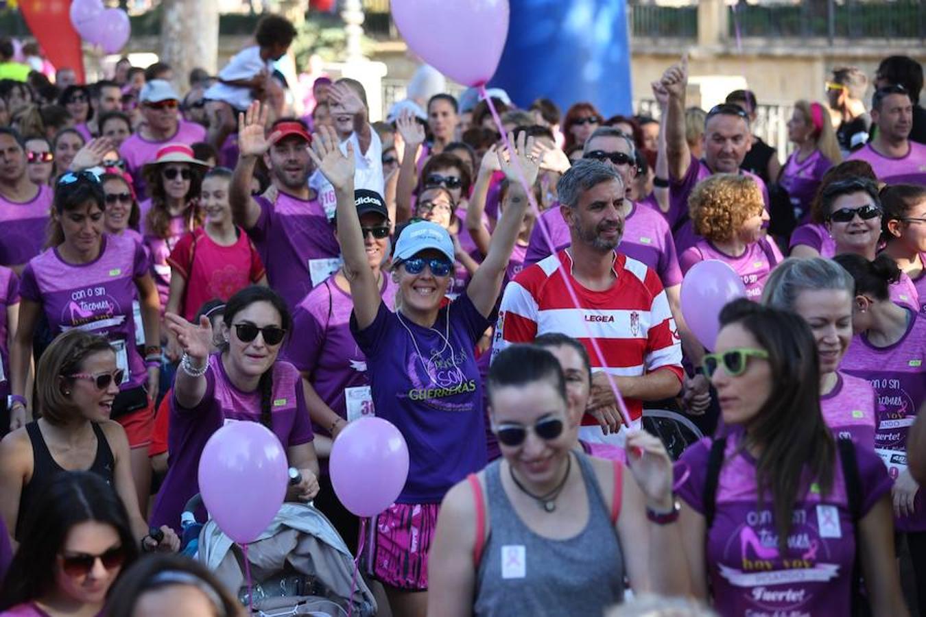
<instances>
[{"instance_id":1,"label":"largest pink balloon, cut off by the top edge","mask_svg":"<svg viewBox=\"0 0 926 617\"><path fill-rule=\"evenodd\" d=\"M392 0L408 46L452 80L490 80L508 35L508 0Z\"/></svg>"}]
</instances>

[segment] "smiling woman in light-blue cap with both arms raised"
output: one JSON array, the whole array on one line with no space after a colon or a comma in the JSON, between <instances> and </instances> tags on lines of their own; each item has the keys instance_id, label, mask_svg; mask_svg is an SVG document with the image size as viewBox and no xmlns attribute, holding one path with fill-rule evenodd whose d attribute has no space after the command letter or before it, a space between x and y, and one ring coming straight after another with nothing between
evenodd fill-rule
<instances>
[{"instance_id":1,"label":"smiling woman in light-blue cap with both arms raised","mask_svg":"<svg viewBox=\"0 0 926 617\"><path fill-rule=\"evenodd\" d=\"M512 136L513 137L513 136ZM519 136L518 155L526 179L538 172L533 139ZM409 472L396 503L369 525L365 554L372 574L385 586L393 611L423 615L428 588L427 554L440 501L446 491L486 463L482 382L473 357L491 325L508 256L527 208L517 174L512 179L510 217L500 221L485 261L457 300L444 305L455 257L449 234L427 221L412 223L395 244L392 277L398 291L393 312L382 302L369 267L354 204L354 154L337 147L322 127L312 158L337 193L338 239L344 273L354 298L351 331L367 357L373 404L408 444Z\"/></svg>"}]
</instances>

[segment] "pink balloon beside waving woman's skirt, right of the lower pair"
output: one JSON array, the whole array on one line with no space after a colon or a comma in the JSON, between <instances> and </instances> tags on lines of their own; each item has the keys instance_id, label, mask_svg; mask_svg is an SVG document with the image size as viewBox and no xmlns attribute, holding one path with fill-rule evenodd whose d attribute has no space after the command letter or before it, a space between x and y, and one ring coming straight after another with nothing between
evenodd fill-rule
<instances>
[{"instance_id":1,"label":"pink balloon beside waving woman's skirt, right of the lower pair","mask_svg":"<svg viewBox=\"0 0 926 617\"><path fill-rule=\"evenodd\" d=\"M389 507L408 477L408 446L392 423L360 418L334 440L329 473L338 499L357 516Z\"/></svg>"}]
</instances>

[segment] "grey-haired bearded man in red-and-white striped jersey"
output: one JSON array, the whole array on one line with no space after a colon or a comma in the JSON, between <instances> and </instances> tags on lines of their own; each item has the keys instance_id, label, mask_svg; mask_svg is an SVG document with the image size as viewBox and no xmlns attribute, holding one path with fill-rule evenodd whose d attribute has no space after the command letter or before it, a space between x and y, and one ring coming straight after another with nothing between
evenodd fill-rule
<instances>
[{"instance_id":1,"label":"grey-haired bearded man in red-and-white striped jersey","mask_svg":"<svg viewBox=\"0 0 926 617\"><path fill-rule=\"evenodd\" d=\"M582 159L559 180L557 192L571 246L525 268L507 285L494 352L545 332L579 339L594 372L589 410L617 415L609 373L633 427L639 427L644 401L674 397L682 387L682 344L666 292L654 270L615 251L624 229L625 191L613 168ZM604 357L594 352L593 338ZM588 414L582 425L583 439L623 440L606 438Z\"/></svg>"}]
</instances>

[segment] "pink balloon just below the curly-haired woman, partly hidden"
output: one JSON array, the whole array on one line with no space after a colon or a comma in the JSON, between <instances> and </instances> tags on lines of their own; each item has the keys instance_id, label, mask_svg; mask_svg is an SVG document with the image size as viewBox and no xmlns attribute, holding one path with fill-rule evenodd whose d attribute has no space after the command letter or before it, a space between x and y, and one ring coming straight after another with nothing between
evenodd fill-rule
<instances>
[{"instance_id":1,"label":"pink balloon just below the curly-haired woman, partly hidden","mask_svg":"<svg viewBox=\"0 0 926 617\"><path fill-rule=\"evenodd\" d=\"M714 350L720 332L720 309L743 298L743 279L719 259L698 262L682 279L682 316L708 351Z\"/></svg>"}]
</instances>

